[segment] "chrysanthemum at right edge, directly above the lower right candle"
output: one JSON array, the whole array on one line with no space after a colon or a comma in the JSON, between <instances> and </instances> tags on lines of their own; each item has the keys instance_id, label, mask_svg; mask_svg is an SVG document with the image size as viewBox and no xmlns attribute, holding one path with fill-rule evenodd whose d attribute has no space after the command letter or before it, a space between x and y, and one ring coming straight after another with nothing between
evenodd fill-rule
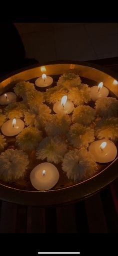
<instances>
[{"instance_id":1,"label":"chrysanthemum at right edge, directly above the lower right candle","mask_svg":"<svg viewBox=\"0 0 118 256\"><path fill-rule=\"evenodd\" d=\"M116 141L118 139L118 118L102 118L96 123L95 135L98 139L111 139Z\"/></svg>"}]
</instances>

